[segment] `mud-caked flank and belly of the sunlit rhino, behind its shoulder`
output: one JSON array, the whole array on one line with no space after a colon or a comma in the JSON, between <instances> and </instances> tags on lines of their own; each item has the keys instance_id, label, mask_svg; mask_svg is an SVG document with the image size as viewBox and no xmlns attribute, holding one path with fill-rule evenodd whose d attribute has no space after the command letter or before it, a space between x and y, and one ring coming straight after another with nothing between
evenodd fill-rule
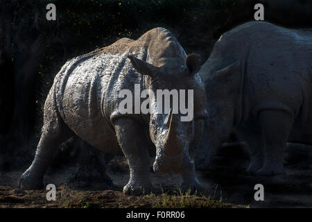
<instances>
[{"instance_id":1,"label":"mud-caked flank and belly of the sunlit rhino, behind its shoulder","mask_svg":"<svg viewBox=\"0 0 312 222\"><path fill-rule=\"evenodd\" d=\"M111 153L119 148L103 113L103 99L107 87L114 84L112 81L122 72L125 51L132 41L124 38L73 58L55 77L56 103L64 122L78 137Z\"/></svg>"}]
</instances>

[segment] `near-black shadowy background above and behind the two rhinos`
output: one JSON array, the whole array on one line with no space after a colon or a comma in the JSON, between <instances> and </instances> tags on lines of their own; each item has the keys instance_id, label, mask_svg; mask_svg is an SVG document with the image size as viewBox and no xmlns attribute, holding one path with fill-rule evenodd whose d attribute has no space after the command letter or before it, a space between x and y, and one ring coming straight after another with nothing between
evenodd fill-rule
<instances>
[{"instance_id":1,"label":"near-black shadowy background above and behind the two rhinos","mask_svg":"<svg viewBox=\"0 0 312 222\"><path fill-rule=\"evenodd\" d=\"M48 3L56 21L46 21ZM253 20L255 3L265 6L266 22L312 27L309 0L1 0L0 169L33 160L46 95L70 58L162 26L203 63L222 33Z\"/></svg>"}]
</instances>

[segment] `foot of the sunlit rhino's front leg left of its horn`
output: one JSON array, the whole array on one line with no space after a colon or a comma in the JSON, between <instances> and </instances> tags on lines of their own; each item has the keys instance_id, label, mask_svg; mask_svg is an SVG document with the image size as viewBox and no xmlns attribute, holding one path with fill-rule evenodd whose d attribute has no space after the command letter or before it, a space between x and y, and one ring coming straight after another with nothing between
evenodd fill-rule
<instances>
[{"instance_id":1,"label":"foot of the sunlit rhino's front leg left of its horn","mask_svg":"<svg viewBox=\"0 0 312 222\"><path fill-rule=\"evenodd\" d=\"M155 193L156 189L153 185L149 183L139 183L139 182L128 182L125 187L123 187L123 194L131 196L140 196Z\"/></svg>"}]
</instances>

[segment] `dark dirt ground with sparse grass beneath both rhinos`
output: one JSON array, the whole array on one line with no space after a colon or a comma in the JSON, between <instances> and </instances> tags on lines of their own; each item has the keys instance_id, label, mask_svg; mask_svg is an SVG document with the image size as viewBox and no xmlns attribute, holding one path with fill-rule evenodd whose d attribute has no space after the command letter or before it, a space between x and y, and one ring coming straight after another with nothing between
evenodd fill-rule
<instances>
[{"instance_id":1,"label":"dark dirt ground with sparse grass beneath both rhinos","mask_svg":"<svg viewBox=\"0 0 312 222\"><path fill-rule=\"evenodd\" d=\"M180 176L151 173L153 185L162 194L125 196L123 185L128 182L128 165L123 157L107 164L107 174L114 183L103 190L101 184L85 189L70 189L67 181L74 167L48 170L44 184L57 187L55 201L46 200L46 190L23 191L17 188L20 171L0 172L0 207L312 207L311 158L285 162L287 176L246 176L248 155L240 146L225 146L214 157L211 167L198 171L198 178L207 187L206 196L179 194L175 189ZM254 200L254 185L264 186L264 201ZM170 191L175 189L175 191Z\"/></svg>"}]
</instances>

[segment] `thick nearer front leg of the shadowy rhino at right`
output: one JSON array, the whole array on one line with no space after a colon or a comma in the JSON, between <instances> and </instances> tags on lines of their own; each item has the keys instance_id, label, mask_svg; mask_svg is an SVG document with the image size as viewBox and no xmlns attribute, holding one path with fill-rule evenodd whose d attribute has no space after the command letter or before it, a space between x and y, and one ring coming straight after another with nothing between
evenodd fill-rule
<instances>
[{"instance_id":1,"label":"thick nearer front leg of the shadowy rhino at right","mask_svg":"<svg viewBox=\"0 0 312 222\"><path fill-rule=\"evenodd\" d=\"M284 151L293 127L293 119L281 110L264 110L259 114L259 124L263 134L266 158L258 174L263 176L285 174Z\"/></svg>"}]
</instances>

